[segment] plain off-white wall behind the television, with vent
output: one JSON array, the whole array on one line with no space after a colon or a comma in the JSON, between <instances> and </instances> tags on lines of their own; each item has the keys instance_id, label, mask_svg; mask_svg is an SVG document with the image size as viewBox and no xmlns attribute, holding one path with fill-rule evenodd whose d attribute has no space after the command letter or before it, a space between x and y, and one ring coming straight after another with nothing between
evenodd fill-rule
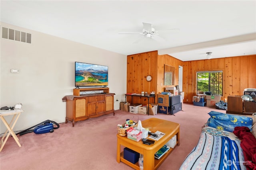
<instances>
[{"instance_id":1,"label":"plain off-white wall behind the television, with vent","mask_svg":"<svg viewBox=\"0 0 256 170\"><path fill-rule=\"evenodd\" d=\"M32 44L3 39L2 27L31 33ZM14 127L15 131L47 119L57 123L65 121L66 103L62 98L73 94L75 61L108 66L108 87L116 94L115 110L124 99L125 55L2 22L0 47L0 107L22 103L25 109ZM19 69L20 73L10 73L11 68ZM11 118L7 117L7 120ZM6 128L2 121L0 126L1 133L4 133Z\"/></svg>"}]
</instances>

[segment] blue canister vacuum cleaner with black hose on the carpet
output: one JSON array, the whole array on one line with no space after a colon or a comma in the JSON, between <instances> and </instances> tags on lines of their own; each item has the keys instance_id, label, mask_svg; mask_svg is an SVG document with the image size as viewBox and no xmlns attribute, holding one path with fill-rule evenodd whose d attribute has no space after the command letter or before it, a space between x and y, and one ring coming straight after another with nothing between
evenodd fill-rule
<instances>
[{"instance_id":1,"label":"blue canister vacuum cleaner with black hose on the carpet","mask_svg":"<svg viewBox=\"0 0 256 170\"><path fill-rule=\"evenodd\" d=\"M34 128L35 127L35 128ZM41 134L41 133L52 133L54 132L54 129L58 129L60 127L60 125L58 123L56 123L55 121L51 121L51 120L46 120L43 121L37 125L34 125L24 131L21 131L19 133L17 133L16 135L24 135L26 133L31 133L34 132L36 134ZM32 129L34 128L34 129Z\"/></svg>"}]
</instances>

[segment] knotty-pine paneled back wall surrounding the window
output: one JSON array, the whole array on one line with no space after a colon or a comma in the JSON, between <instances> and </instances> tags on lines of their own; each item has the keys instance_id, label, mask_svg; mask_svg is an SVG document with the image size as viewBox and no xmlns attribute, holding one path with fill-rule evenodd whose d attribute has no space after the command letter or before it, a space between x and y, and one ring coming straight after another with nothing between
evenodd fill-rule
<instances>
[{"instance_id":1,"label":"knotty-pine paneled back wall surrounding the window","mask_svg":"<svg viewBox=\"0 0 256 170\"><path fill-rule=\"evenodd\" d=\"M242 95L245 88L256 88L256 55L185 61L184 103L192 103L192 97L196 96L196 71L203 70L223 70L223 101L230 95Z\"/></svg>"}]
</instances>

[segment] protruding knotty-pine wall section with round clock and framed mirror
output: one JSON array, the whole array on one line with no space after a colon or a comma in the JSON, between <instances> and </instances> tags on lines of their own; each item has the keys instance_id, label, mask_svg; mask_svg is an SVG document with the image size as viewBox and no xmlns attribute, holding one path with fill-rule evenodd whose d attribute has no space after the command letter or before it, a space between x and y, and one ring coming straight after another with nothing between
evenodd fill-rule
<instances>
[{"instance_id":1,"label":"protruding knotty-pine wall section with round clock and framed mirror","mask_svg":"<svg viewBox=\"0 0 256 170\"><path fill-rule=\"evenodd\" d=\"M157 51L140 53L127 56L127 93L152 92L155 94L163 92L164 86L164 64L175 67L174 84L178 85L178 66L183 65L183 61L175 59L170 55L158 55ZM152 80L146 81L146 76L151 75ZM126 101L131 102L131 97L127 96ZM157 98L155 98L157 103ZM147 98L134 97L133 103L146 105ZM150 103L154 103L154 98L150 98Z\"/></svg>"}]
</instances>

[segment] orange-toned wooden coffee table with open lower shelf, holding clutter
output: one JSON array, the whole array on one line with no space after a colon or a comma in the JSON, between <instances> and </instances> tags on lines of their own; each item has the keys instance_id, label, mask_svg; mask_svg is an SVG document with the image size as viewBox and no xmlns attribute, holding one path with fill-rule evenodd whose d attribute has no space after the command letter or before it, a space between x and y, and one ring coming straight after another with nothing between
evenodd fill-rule
<instances>
[{"instance_id":1,"label":"orange-toned wooden coffee table with open lower shelf, holding clutter","mask_svg":"<svg viewBox=\"0 0 256 170\"><path fill-rule=\"evenodd\" d=\"M131 139L128 139L127 136L122 137L117 134L117 159L116 160L118 163L120 163L121 161L136 170L140 170L140 166L138 162L136 164L133 164L128 160L124 159L124 153L120 152L120 147L122 145L136 152L139 152L140 154L143 154L144 170L155 170L162 164L162 162L164 162L164 160L169 156L169 154L172 152L173 149L170 148L170 150L168 150L168 152L164 154L162 158L160 158L159 160L154 158L154 154L160 148L162 148L172 137L174 137L174 135L176 135L176 139L177 139L176 146L180 145L180 124L163 120L163 119L150 118L142 121L142 127L149 128L150 131L152 132L161 131L166 135L164 135L158 141L155 141L153 145L145 145L142 143L141 140L136 142Z\"/></svg>"}]
</instances>

